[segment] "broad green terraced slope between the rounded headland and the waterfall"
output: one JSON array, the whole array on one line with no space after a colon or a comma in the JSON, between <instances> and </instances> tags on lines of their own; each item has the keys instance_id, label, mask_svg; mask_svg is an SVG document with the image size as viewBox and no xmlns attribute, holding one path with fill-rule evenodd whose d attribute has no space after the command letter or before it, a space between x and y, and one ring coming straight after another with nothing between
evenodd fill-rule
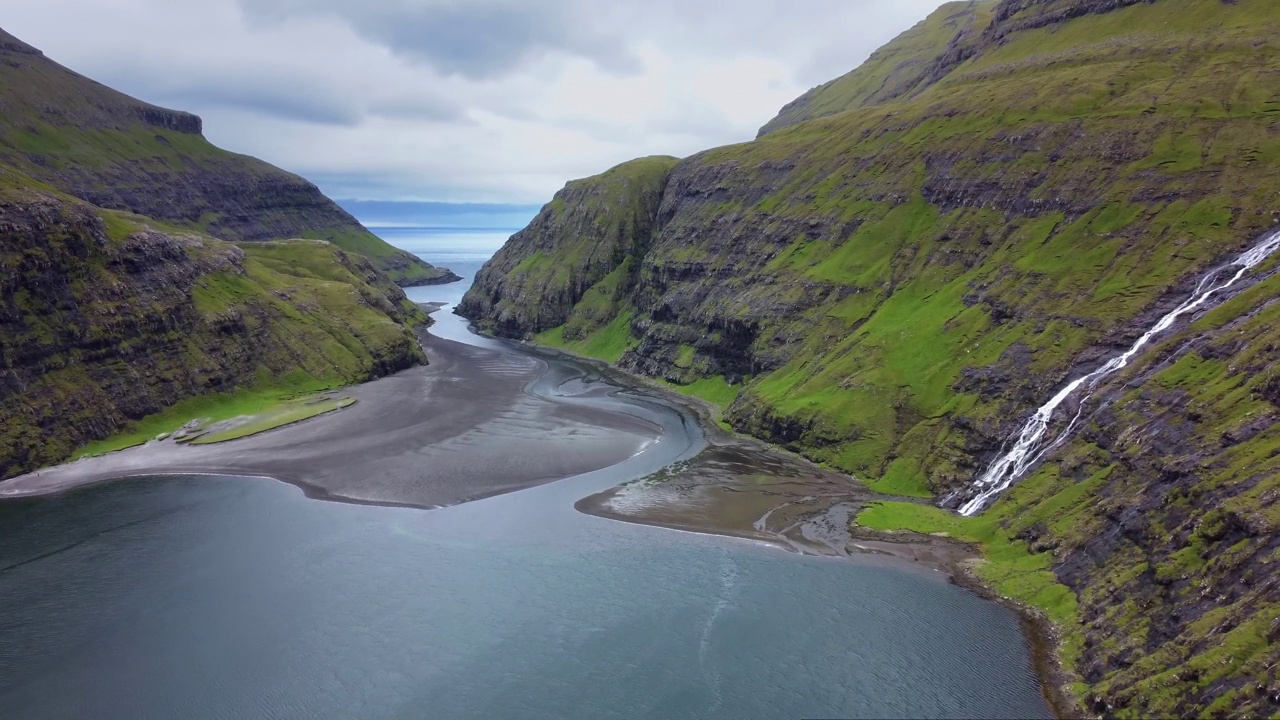
<instances>
[{"instance_id":1,"label":"broad green terraced slope between the rounded headland and the waterfall","mask_svg":"<svg viewBox=\"0 0 1280 720\"><path fill-rule=\"evenodd\" d=\"M914 100L682 163L623 363L691 346L755 378L744 428L897 487L968 480L1085 350L1275 224L1277 23L1258 1L1085 14Z\"/></svg>"}]
</instances>

